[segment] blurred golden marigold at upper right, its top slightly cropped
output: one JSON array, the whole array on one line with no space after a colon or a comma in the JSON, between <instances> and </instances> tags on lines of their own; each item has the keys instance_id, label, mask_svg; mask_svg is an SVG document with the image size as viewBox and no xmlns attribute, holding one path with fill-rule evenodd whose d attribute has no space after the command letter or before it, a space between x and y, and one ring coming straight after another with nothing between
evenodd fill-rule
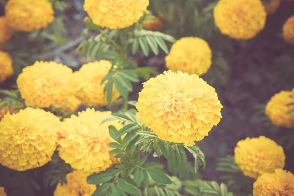
<instances>
[{"instance_id":1,"label":"blurred golden marigold at upper right, its top slightly cropped","mask_svg":"<svg viewBox=\"0 0 294 196\"><path fill-rule=\"evenodd\" d=\"M255 37L267 18L261 0L220 0L213 14L222 34L245 40Z\"/></svg>"}]
</instances>

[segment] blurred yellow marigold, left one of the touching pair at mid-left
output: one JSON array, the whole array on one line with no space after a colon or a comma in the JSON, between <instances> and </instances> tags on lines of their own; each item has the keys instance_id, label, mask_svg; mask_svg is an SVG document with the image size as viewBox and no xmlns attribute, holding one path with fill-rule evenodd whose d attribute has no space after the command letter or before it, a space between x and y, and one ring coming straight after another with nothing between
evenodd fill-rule
<instances>
[{"instance_id":1,"label":"blurred yellow marigold, left one of the touching pair at mid-left","mask_svg":"<svg viewBox=\"0 0 294 196\"><path fill-rule=\"evenodd\" d=\"M28 104L46 108L72 96L72 78L72 69L65 65L36 61L23 69L16 82Z\"/></svg>"}]
</instances>

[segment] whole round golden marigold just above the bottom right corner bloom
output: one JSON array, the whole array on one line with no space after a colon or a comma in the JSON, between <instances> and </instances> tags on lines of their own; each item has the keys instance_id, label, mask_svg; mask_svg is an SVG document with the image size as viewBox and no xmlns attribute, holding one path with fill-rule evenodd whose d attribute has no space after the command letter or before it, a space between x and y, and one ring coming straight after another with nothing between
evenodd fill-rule
<instances>
[{"instance_id":1,"label":"whole round golden marigold just above the bottom right corner bloom","mask_svg":"<svg viewBox=\"0 0 294 196\"><path fill-rule=\"evenodd\" d=\"M241 140L234 151L238 167L245 176L255 179L263 173L284 168L285 165L283 148L264 136Z\"/></svg>"}]
</instances>

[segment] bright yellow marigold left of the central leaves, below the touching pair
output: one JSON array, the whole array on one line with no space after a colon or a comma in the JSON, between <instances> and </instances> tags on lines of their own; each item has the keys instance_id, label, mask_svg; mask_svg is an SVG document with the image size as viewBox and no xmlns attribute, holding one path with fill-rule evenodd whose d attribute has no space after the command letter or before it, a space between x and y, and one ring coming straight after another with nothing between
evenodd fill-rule
<instances>
[{"instance_id":1,"label":"bright yellow marigold left of the central leaves, below the touching pair","mask_svg":"<svg viewBox=\"0 0 294 196\"><path fill-rule=\"evenodd\" d=\"M109 125L121 129L119 121L100 124L111 117L111 112L99 112L94 108L72 115L62 122L58 144L60 157L73 169L83 172L102 172L117 163L109 143L115 142L109 135Z\"/></svg>"}]
</instances>

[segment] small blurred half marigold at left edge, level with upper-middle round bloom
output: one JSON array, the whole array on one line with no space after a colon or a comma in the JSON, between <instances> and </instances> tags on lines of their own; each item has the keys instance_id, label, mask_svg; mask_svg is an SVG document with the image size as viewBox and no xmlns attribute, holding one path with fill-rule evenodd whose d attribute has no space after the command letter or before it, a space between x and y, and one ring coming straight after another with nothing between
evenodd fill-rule
<instances>
[{"instance_id":1,"label":"small blurred half marigold at left edge, level with upper-middle round bloom","mask_svg":"<svg viewBox=\"0 0 294 196\"><path fill-rule=\"evenodd\" d=\"M0 50L0 82L14 74L12 58L7 52Z\"/></svg>"}]
</instances>

